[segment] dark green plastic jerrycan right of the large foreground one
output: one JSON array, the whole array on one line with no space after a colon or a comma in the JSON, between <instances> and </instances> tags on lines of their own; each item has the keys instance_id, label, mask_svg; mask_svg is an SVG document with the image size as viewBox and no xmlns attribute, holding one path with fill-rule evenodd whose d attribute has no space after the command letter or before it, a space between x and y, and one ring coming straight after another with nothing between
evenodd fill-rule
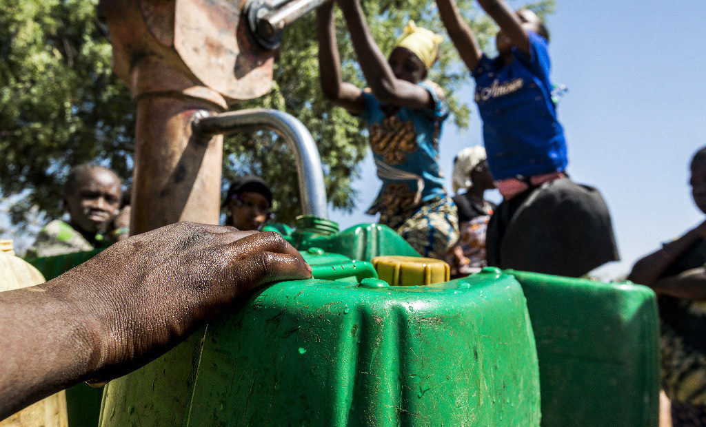
<instances>
[{"instance_id":1,"label":"dark green plastic jerrycan right of the large foreground one","mask_svg":"<svg viewBox=\"0 0 706 427\"><path fill-rule=\"evenodd\" d=\"M506 270L522 285L537 340L542 426L657 426L654 292Z\"/></svg>"}]
</instances>

